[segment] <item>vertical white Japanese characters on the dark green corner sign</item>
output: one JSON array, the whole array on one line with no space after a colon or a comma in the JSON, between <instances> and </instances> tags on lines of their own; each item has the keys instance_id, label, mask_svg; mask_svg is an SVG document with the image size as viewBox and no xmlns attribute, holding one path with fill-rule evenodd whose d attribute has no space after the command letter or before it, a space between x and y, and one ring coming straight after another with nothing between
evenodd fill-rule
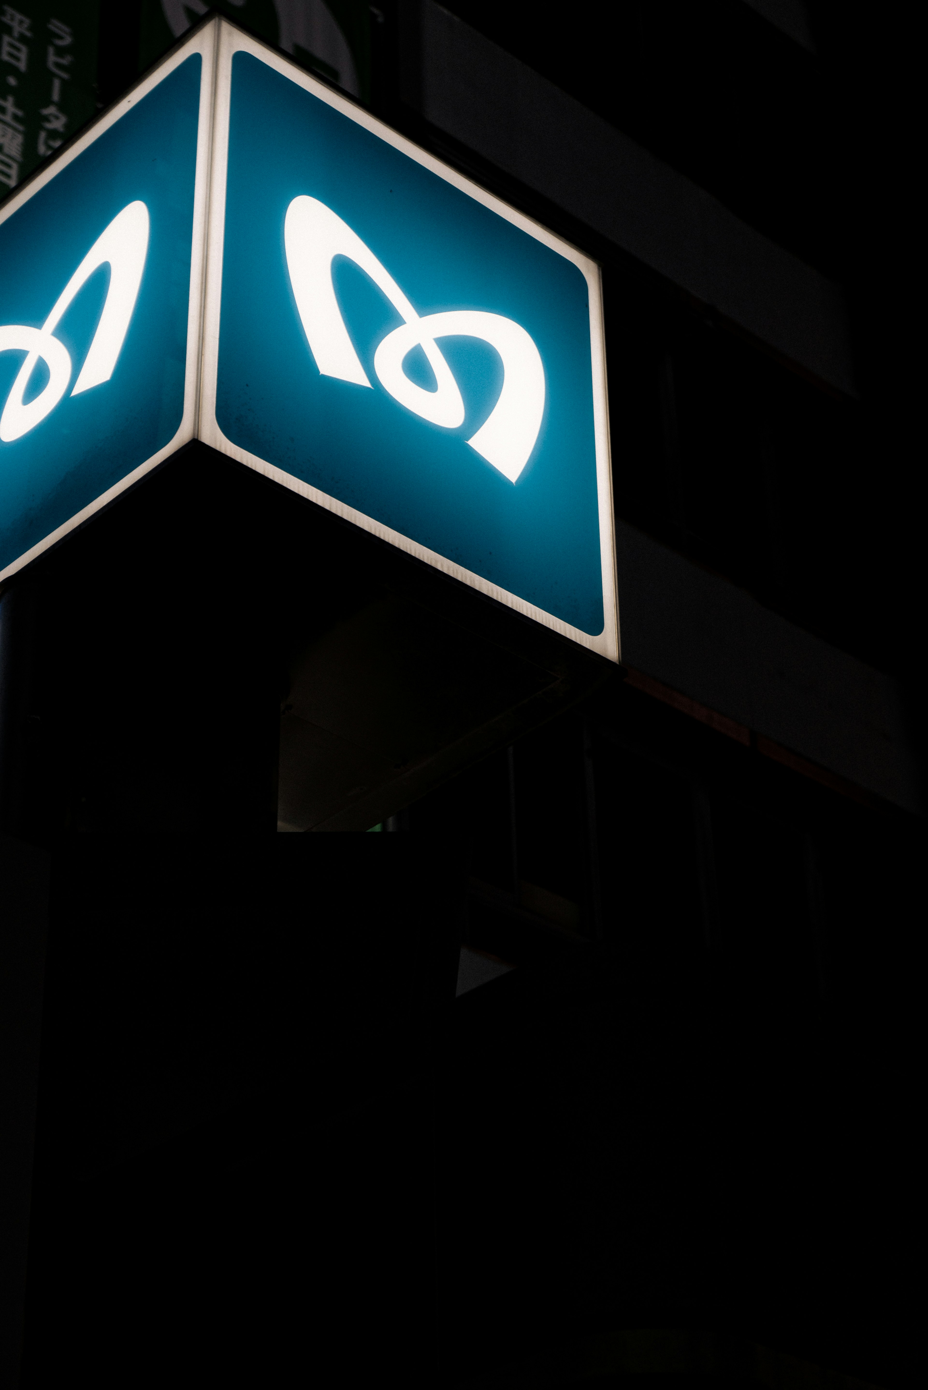
<instances>
[{"instance_id":1,"label":"vertical white Japanese characters on the dark green corner sign","mask_svg":"<svg viewBox=\"0 0 928 1390\"><path fill-rule=\"evenodd\" d=\"M0 6L0 185L15 188L86 120L72 99L75 32L47 8Z\"/></svg>"}]
</instances>

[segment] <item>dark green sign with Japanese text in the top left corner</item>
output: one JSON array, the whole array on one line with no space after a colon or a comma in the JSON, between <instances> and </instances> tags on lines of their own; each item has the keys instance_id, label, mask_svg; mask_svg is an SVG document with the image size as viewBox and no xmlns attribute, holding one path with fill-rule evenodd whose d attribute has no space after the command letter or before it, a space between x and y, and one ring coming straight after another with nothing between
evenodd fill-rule
<instances>
[{"instance_id":1,"label":"dark green sign with Japanese text in the top left corner","mask_svg":"<svg viewBox=\"0 0 928 1390\"><path fill-rule=\"evenodd\" d=\"M96 0L0 6L0 196L96 114Z\"/></svg>"}]
</instances>

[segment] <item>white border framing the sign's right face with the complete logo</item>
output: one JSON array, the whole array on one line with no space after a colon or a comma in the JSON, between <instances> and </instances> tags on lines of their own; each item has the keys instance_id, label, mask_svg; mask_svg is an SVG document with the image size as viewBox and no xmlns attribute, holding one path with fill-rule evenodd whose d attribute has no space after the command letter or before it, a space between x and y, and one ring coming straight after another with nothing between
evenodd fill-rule
<instances>
[{"instance_id":1,"label":"white border framing the sign's right face with the complete logo","mask_svg":"<svg viewBox=\"0 0 928 1390\"><path fill-rule=\"evenodd\" d=\"M220 453L235 459L238 463L246 464L246 467L264 474L267 478L273 478L275 482L289 488L292 492L296 492L301 496L307 498L310 502L326 507L328 512L344 517L346 521L353 523L362 530L380 537L380 539L388 541L399 550L405 550L408 555L412 555L419 560L424 560L427 564L441 570L444 574L448 574L455 580L461 580L470 588L479 589L481 594L497 599L506 607L512 607L516 612L523 613L526 617L534 619L534 621L569 637L579 645L598 652L612 662L621 660L615 523L612 510L612 467L609 455L609 411L605 379L605 336L602 327L602 284L598 264L589 256L579 252L575 246L570 246L569 242L555 236L554 232L550 232L541 224L526 217L523 213L519 213L515 207L504 203L501 199L488 193L477 183L473 183L448 164L442 164L441 160L429 154L427 150L413 145L412 140L408 140L405 136L398 135L397 131L384 125L362 107L355 106L353 101L349 101L331 88L316 81L302 68L298 68L281 54L260 43L257 39L252 39L228 21L217 18L214 24L218 26L218 43L216 47L216 103L206 250L206 299L203 309L199 438L213 449L217 449ZM536 607L533 603L527 603L525 599L511 594L508 589L504 589L497 584L491 584L488 580L474 574L472 570L466 570L463 566L455 564L452 560L445 559L435 550L430 550L417 541L412 541L402 532L383 525L366 513L358 512L355 507L345 506L345 503L326 492L321 492L319 488L313 488L301 478L295 478L282 468L267 463L257 455L249 453L246 449L232 443L231 439L227 439L220 430L216 420L216 389L218 373L220 306L223 292L223 243L225 232L225 183L228 167L231 76L232 57L235 53L250 53L253 57L267 64L267 67L274 68L282 76L288 78L291 82L302 86L306 92L312 92L313 96L326 101L327 106L334 107L358 125L370 131L387 145L392 145L394 149L399 150L402 154L406 154L417 164L422 164L433 174L437 174L445 182L459 188L463 193L467 193L467 196L473 197L476 202L483 203L483 206L488 207L493 213L497 213L499 217L505 217L506 221L519 227L530 236L534 236L545 246L550 246L566 260L570 260L584 275L589 288L590 304L593 416L597 463L597 496L600 509L600 555L602 563L602 609L605 620L602 632L590 635L589 632L583 632L580 628L572 627L569 623L554 617L544 609Z\"/></svg>"}]
</instances>

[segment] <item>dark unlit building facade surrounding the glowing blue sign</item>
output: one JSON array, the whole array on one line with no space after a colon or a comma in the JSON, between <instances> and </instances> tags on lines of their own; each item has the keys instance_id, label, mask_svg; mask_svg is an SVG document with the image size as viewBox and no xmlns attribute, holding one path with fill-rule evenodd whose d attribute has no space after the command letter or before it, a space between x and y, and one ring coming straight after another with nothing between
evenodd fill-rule
<instances>
[{"instance_id":1,"label":"dark unlit building facade surrounding the glowing blue sign","mask_svg":"<svg viewBox=\"0 0 928 1390\"><path fill-rule=\"evenodd\" d=\"M906 17L218 8L601 264L622 664L206 450L10 582L10 1383L910 1384Z\"/></svg>"}]
</instances>

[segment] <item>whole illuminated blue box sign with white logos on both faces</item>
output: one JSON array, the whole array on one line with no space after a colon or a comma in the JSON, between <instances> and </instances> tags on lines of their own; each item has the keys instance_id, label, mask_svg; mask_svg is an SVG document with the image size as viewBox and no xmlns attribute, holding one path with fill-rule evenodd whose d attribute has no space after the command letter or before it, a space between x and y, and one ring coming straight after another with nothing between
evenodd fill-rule
<instances>
[{"instance_id":1,"label":"whole illuminated blue box sign with white logos on both faces","mask_svg":"<svg viewBox=\"0 0 928 1390\"><path fill-rule=\"evenodd\" d=\"M199 438L618 660L600 271L213 19L0 210L0 578Z\"/></svg>"}]
</instances>

